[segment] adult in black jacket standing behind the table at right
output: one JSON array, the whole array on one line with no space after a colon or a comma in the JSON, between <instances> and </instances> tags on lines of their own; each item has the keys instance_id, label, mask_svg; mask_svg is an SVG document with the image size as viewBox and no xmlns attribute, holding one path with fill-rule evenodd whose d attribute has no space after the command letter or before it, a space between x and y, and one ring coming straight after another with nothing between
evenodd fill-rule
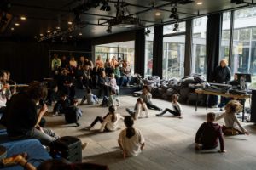
<instances>
[{"instance_id":1,"label":"adult in black jacket standing behind the table at right","mask_svg":"<svg viewBox=\"0 0 256 170\"><path fill-rule=\"evenodd\" d=\"M221 59L219 65L216 67L213 73L213 82L229 84L231 79L231 71L228 66L227 59ZM225 105L226 98L221 97L218 107L222 109ZM215 104L218 104L218 97L215 99Z\"/></svg>"}]
</instances>

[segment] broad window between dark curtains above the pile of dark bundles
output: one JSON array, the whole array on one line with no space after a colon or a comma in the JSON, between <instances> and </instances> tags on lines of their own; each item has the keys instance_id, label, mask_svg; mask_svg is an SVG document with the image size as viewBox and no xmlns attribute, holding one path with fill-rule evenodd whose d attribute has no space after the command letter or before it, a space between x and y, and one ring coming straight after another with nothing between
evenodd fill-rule
<instances>
[{"instance_id":1,"label":"broad window between dark curtains above the pile of dark bundles","mask_svg":"<svg viewBox=\"0 0 256 170\"><path fill-rule=\"evenodd\" d=\"M185 36L164 37L163 78L184 76Z\"/></svg>"}]
</instances>

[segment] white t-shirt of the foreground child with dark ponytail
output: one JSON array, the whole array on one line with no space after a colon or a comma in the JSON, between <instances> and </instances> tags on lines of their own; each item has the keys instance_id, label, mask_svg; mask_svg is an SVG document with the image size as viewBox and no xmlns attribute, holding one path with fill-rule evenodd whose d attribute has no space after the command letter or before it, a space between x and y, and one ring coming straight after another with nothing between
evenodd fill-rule
<instances>
[{"instance_id":1,"label":"white t-shirt of the foreground child with dark ponytail","mask_svg":"<svg viewBox=\"0 0 256 170\"><path fill-rule=\"evenodd\" d=\"M145 143L143 134L135 128L135 135L130 139L126 137L126 128L119 134L119 142L126 151L127 156L137 156L142 152L141 146Z\"/></svg>"}]
</instances>

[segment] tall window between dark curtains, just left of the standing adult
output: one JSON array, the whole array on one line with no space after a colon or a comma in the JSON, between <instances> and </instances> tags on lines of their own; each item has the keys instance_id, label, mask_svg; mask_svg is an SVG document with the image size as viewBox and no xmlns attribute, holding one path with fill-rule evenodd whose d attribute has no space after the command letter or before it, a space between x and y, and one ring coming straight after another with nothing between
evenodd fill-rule
<instances>
[{"instance_id":1,"label":"tall window between dark curtains, just left of the standing adult","mask_svg":"<svg viewBox=\"0 0 256 170\"><path fill-rule=\"evenodd\" d=\"M207 74L207 17L193 20L192 72Z\"/></svg>"}]
</instances>

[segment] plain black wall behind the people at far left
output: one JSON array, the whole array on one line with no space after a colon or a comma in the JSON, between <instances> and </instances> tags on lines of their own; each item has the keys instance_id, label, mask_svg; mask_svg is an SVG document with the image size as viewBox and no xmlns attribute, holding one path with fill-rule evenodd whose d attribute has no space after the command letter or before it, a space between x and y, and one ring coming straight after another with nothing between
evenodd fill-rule
<instances>
[{"instance_id":1,"label":"plain black wall behind the people at far left","mask_svg":"<svg viewBox=\"0 0 256 170\"><path fill-rule=\"evenodd\" d=\"M34 41L0 41L0 69L11 72L17 83L42 81L49 77L49 50L90 51L90 41L57 44Z\"/></svg>"}]
</instances>

